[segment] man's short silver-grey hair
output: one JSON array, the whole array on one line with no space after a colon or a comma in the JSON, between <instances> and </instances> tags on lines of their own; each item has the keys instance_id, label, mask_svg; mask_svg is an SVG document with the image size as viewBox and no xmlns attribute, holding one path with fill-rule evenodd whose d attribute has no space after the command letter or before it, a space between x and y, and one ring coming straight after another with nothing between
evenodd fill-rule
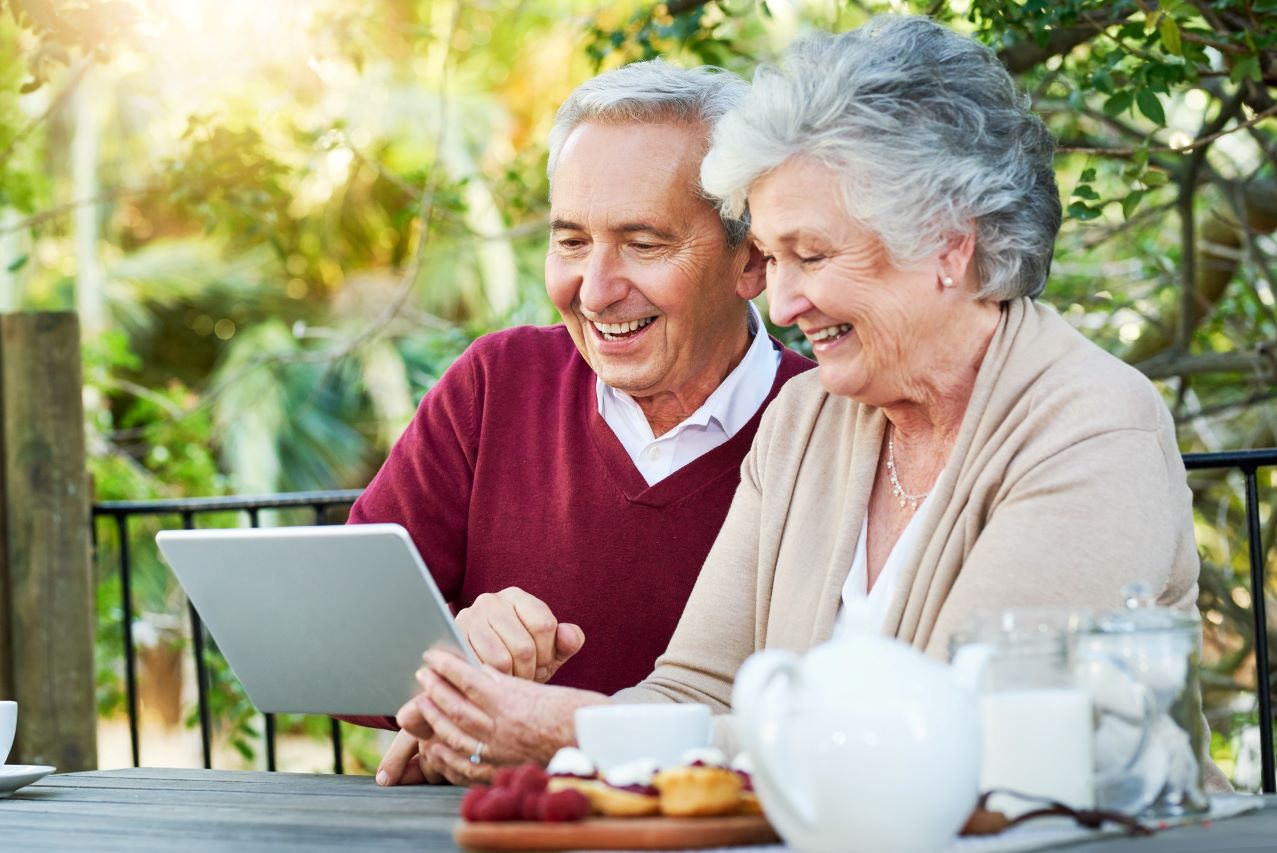
<instances>
[{"instance_id":1,"label":"man's short silver-grey hair","mask_svg":"<svg viewBox=\"0 0 1277 853\"><path fill-rule=\"evenodd\" d=\"M553 184L563 143L585 121L704 123L707 130L713 130L748 91L748 83L722 68L700 65L684 69L659 59L600 74L576 87L554 116L545 171ZM715 200L707 194L706 198ZM728 246L734 249L750 232L748 216L743 212L720 212L720 216Z\"/></svg>"}]
</instances>

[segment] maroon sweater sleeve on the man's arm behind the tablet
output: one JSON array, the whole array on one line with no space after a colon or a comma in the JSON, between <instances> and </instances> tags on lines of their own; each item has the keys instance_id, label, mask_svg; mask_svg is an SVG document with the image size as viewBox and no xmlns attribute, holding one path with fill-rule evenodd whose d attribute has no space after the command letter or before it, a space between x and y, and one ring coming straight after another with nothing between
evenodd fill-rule
<instances>
[{"instance_id":1,"label":"maroon sweater sleeve on the man's arm behind the tablet","mask_svg":"<svg viewBox=\"0 0 1277 853\"><path fill-rule=\"evenodd\" d=\"M421 398L412 423L351 507L349 520L404 525L450 604L465 580L479 446L480 347L476 342L466 350Z\"/></svg>"}]
</instances>

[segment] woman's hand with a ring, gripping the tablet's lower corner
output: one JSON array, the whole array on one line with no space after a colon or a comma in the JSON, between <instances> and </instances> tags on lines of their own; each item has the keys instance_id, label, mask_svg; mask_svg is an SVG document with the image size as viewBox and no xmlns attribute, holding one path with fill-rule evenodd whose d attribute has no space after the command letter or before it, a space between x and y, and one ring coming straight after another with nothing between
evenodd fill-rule
<instances>
[{"instance_id":1,"label":"woman's hand with a ring, gripping the tablet's lower corner","mask_svg":"<svg viewBox=\"0 0 1277 853\"><path fill-rule=\"evenodd\" d=\"M414 737L434 738L425 752L430 765L458 785L488 781L501 765L545 765L559 748L576 743L576 709L608 702L603 693L480 669L443 649L423 659L425 667L416 674L421 693L396 720Z\"/></svg>"}]
</instances>

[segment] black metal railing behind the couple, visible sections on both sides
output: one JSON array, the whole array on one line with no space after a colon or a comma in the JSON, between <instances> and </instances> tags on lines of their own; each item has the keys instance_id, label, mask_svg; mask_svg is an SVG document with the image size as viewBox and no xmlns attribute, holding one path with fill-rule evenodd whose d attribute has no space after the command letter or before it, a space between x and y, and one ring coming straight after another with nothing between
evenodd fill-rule
<instances>
[{"instance_id":1,"label":"black metal railing behind the couple, visible sections on both sides","mask_svg":"<svg viewBox=\"0 0 1277 853\"><path fill-rule=\"evenodd\" d=\"M1263 538L1259 527L1259 480L1258 471L1262 467L1277 467L1277 448L1235 451L1222 453L1189 453L1184 457L1184 465L1190 471L1203 470L1239 470L1245 480L1245 513L1246 538L1250 561L1250 600L1251 619L1254 626L1254 653L1255 653L1255 692L1259 700L1259 757L1262 785L1264 793L1277 793L1277 780L1274 780L1273 761L1273 709L1272 709L1272 683L1268 673L1268 608L1264 600L1266 586L1266 553ZM360 492L298 492L291 494L276 494L261 498L186 498L176 501L110 501L93 507L93 541L97 543L97 521L101 518L114 518L119 535L120 549L120 596L124 613L124 656L125 656L125 691L129 714L129 738L133 748L133 764L140 764L138 748L138 696L137 696L137 670L133 649L133 600L130 585L130 558L128 522L135 516L179 516L184 527L194 527L195 517L215 512L245 512L252 526L258 526L259 513L264 510L296 510L309 508L314 512L314 524L328 524L328 511L335 507L345 507L354 503ZM204 630L199 621L199 614L189 607L192 637L194 638L197 692L199 701L199 732L203 744L204 766L209 767L211 755L211 718L208 713L208 683L207 668L204 663ZM336 720L332 725L333 770L342 773L341 756L341 729ZM275 719L266 715L266 755L267 769L275 770Z\"/></svg>"}]
</instances>

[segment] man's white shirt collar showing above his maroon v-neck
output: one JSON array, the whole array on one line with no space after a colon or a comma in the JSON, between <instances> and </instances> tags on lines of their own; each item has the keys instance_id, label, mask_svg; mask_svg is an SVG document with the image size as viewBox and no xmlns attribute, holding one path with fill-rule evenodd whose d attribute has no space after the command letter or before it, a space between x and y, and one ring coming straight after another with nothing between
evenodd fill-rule
<instances>
[{"instance_id":1,"label":"man's white shirt collar showing above his maroon v-neck","mask_svg":"<svg viewBox=\"0 0 1277 853\"><path fill-rule=\"evenodd\" d=\"M748 305L753 342L744 358L700 409L660 438L653 434L647 416L633 397L595 379L599 415L616 433L647 485L660 483L736 435L767 398L780 366L780 351L771 346L759 309L752 303Z\"/></svg>"}]
</instances>

